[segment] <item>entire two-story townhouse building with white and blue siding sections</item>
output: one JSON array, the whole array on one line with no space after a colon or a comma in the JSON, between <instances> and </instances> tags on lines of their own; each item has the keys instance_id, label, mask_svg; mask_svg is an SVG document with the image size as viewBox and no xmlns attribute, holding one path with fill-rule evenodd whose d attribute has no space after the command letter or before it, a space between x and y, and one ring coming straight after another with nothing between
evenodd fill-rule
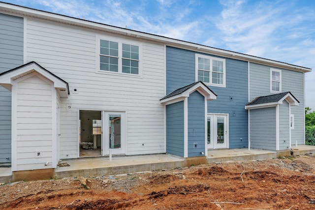
<instances>
[{"instance_id":1,"label":"entire two-story townhouse building with white and blue siding sections","mask_svg":"<svg viewBox=\"0 0 315 210\"><path fill-rule=\"evenodd\" d=\"M0 163L305 144L310 68L0 2Z\"/></svg>"}]
</instances>

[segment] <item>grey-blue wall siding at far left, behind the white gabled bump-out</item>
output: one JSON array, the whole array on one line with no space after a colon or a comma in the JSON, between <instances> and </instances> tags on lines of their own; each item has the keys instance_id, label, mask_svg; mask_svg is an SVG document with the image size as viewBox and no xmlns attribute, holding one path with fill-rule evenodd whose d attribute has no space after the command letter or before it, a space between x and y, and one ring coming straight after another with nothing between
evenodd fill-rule
<instances>
[{"instance_id":1,"label":"grey-blue wall siding at far left, behind the white gabled bump-out","mask_svg":"<svg viewBox=\"0 0 315 210\"><path fill-rule=\"evenodd\" d=\"M0 40L0 73L23 64L23 18L0 14ZM3 162L11 162L11 92L0 86L0 163Z\"/></svg>"}]
</instances>

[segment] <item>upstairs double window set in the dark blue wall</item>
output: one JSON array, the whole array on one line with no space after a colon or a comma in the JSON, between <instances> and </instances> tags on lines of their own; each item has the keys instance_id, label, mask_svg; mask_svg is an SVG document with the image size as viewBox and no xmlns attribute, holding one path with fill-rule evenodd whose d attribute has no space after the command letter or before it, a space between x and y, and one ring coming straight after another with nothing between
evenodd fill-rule
<instances>
[{"instance_id":1,"label":"upstairs double window set in the dark blue wall","mask_svg":"<svg viewBox=\"0 0 315 210\"><path fill-rule=\"evenodd\" d=\"M225 60L196 54L196 81L225 87Z\"/></svg>"}]
</instances>

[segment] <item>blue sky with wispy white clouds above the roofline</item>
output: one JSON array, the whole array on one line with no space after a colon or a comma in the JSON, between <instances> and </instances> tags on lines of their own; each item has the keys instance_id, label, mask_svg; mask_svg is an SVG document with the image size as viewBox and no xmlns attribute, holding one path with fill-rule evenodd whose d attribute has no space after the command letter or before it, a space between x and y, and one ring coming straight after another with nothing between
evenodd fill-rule
<instances>
[{"instance_id":1,"label":"blue sky with wispy white clouds above the roofline","mask_svg":"<svg viewBox=\"0 0 315 210\"><path fill-rule=\"evenodd\" d=\"M315 111L315 0L2 1L312 68Z\"/></svg>"}]
</instances>

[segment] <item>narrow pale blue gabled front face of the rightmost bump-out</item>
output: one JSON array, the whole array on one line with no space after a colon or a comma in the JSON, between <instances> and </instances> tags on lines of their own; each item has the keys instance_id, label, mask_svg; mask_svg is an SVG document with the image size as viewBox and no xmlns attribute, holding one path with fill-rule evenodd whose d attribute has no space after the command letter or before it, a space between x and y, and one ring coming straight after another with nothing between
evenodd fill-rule
<instances>
[{"instance_id":1,"label":"narrow pale blue gabled front face of the rightmost bump-out","mask_svg":"<svg viewBox=\"0 0 315 210\"><path fill-rule=\"evenodd\" d=\"M287 150L289 147L289 104L285 100L279 106L279 149Z\"/></svg>"}]
</instances>

